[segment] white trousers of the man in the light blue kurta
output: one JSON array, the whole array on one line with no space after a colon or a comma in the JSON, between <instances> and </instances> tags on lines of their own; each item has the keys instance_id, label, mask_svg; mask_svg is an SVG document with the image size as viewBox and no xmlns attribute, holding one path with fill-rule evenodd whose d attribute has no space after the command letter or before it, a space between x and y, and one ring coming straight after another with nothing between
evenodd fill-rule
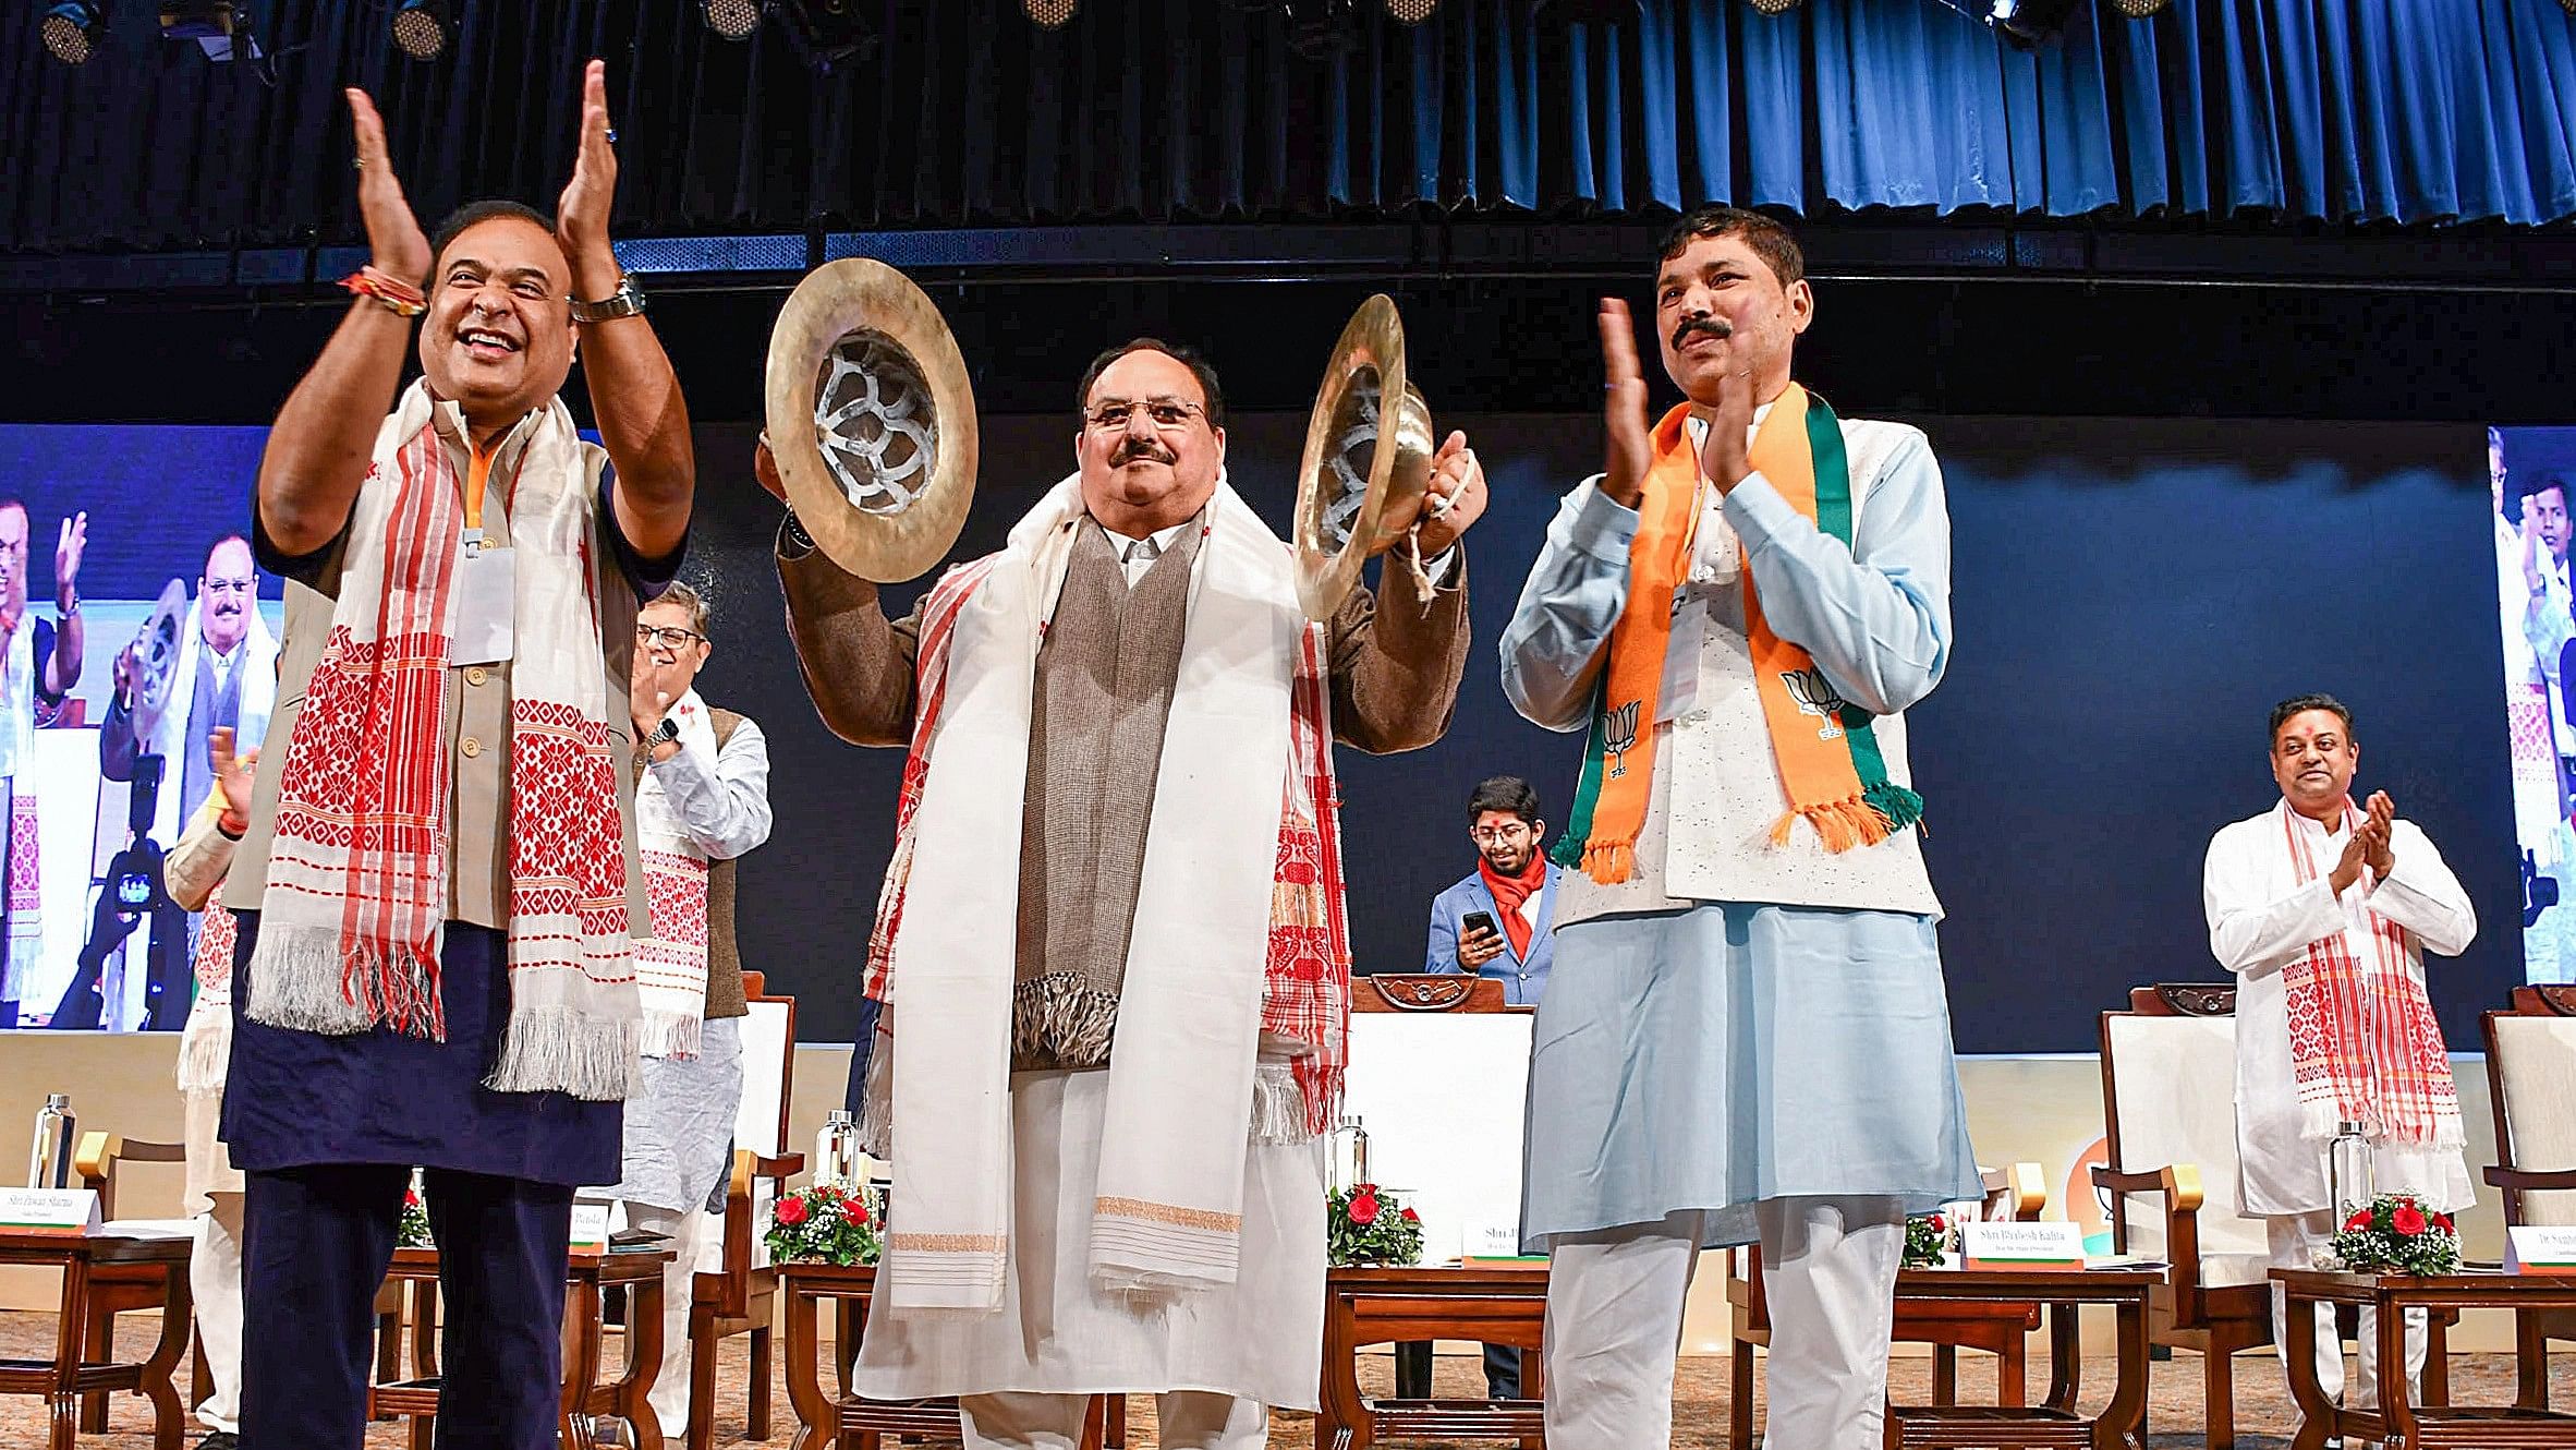
<instances>
[{"instance_id":1,"label":"white trousers of the man in the light blue kurta","mask_svg":"<svg viewBox=\"0 0 2576 1450\"><path fill-rule=\"evenodd\" d=\"M1878 1445L1904 1205L1893 1198L1770 1198L1754 1205L1772 1344L1770 1450ZM1672 1442L1672 1360L1698 1267L1703 1213L1558 1234L1548 1265L1548 1445Z\"/></svg>"}]
</instances>

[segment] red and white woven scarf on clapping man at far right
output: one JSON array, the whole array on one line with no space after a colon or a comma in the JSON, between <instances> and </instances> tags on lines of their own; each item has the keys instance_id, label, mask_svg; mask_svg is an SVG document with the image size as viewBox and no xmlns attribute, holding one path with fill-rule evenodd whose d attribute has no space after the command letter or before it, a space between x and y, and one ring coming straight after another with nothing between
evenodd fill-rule
<instances>
[{"instance_id":1,"label":"red and white woven scarf on clapping man at far right","mask_svg":"<svg viewBox=\"0 0 2576 1450\"><path fill-rule=\"evenodd\" d=\"M2298 811L2277 806L2298 881L2321 876ZM2344 829L2360 814L2344 801ZM2352 930L2308 943L2282 968L2290 999L2290 1074L2298 1087L2300 1136L2331 1138L2336 1123L2360 1123L2375 1144L2460 1146L2460 1089L2450 1051L2414 974L2416 943L2406 927L2362 907L2365 958Z\"/></svg>"}]
</instances>

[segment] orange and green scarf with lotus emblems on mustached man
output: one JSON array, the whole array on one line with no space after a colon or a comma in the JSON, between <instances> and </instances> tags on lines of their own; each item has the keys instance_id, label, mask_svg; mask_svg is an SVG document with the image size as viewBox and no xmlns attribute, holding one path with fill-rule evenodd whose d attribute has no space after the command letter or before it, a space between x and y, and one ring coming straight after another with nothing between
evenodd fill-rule
<instances>
[{"instance_id":1,"label":"orange and green scarf with lotus emblems on mustached man","mask_svg":"<svg viewBox=\"0 0 2576 1450\"><path fill-rule=\"evenodd\" d=\"M1610 631L1584 773L1574 788L1558 865L1582 865L1615 886L1636 876L1636 837L1646 829L1654 783L1656 688L1672 646L1672 592L1690 572L1698 528L1700 451L1690 443L1690 407L1654 428L1636 541L1628 546L1628 610ZM1790 384L1754 435L1752 466L1816 528L1852 546L1852 471L1842 422L1821 397ZM1870 713L1844 703L1806 649L1772 634L1754 574L1744 569L1744 623L1754 680L1788 811L1772 822L1772 845L1788 845L1803 816L1826 850L1878 845L1922 819L1922 796L1888 780L1888 762L1870 734Z\"/></svg>"}]
</instances>

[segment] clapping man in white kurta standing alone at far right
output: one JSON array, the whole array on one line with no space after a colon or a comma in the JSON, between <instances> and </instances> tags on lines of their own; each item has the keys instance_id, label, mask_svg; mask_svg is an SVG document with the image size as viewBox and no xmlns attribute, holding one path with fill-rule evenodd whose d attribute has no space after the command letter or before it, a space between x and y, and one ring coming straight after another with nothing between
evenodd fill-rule
<instances>
[{"instance_id":1,"label":"clapping man in white kurta standing alone at far right","mask_svg":"<svg viewBox=\"0 0 2576 1450\"><path fill-rule=\"evenodd\" d=\"M2460 1156L2460 1092L2424 997L2424 953L2460 956L2478 917L2442 852L2385 791L2352 801L2362 747L2334 695L2272 706L2280 801L2210 840L2210 950L2236 974L2236 1151L2244 1213L2275 1267L2313 1267L2336 1231L2326 1154L2339 1123L2370 1141L2375 1192L2427 1213L2476 1198ZM2344 1347L2318 1306L2316 1380L2344 1388ZM2406 1316L2406 1380L2424 1373L2424 1319ZM2272 1290L2272 1342L2287 1313ZM2360 1326L2354 1406L2378 1401L2375 1326Z\"/></svg>"}]
</instances>

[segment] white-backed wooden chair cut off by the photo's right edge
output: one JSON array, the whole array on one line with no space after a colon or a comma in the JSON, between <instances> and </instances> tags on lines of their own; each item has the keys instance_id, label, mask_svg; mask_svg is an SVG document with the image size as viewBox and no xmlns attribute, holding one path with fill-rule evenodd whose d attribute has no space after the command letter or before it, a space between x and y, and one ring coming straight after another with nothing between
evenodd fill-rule
<instances>
[{"instance_id":1,"label":"white-backed wooden chair cut off by the photo's right edge","mask_svg":"<svg viewBox=\"0 0 2576 1450\"><path fill-rule=\"evenodd\" d=\"M2486 1089L2506 1223L2576 1223L2576 986L2517 986L2486 1020ZM2537 1164L2537 1167L2530 1167ZM2550 1406L2550 1339L2576 1339L2576 1311L2517 1313L2514 1404Z\"/></svg>"}]
</instances>

